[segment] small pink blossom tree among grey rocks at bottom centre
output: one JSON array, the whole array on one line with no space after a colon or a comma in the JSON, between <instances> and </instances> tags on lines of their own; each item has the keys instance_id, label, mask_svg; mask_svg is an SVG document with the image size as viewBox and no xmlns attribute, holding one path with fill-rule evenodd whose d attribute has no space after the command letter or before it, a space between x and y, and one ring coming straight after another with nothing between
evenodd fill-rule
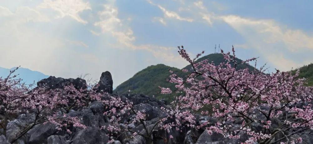
<instances>
[{"instance_id":1,"label":"small pink blossom tree among grey rocks at bottom centre","mask_svg":"<svg viewBox=\"0 0 313 144\"><path fill-rule=\"evenodd\" d=\"M106 95L105 100L100 100L105 106L105 116L109 117L110 123L101 127L110 132L110 135L120 137L125 133L131 133L131 137L134 138L137 135L144 137L147 144L152 144L152 134L154 131L161 129L161 124L167 120L167 117L162 117L165 108L161 107L162 112L156 118L156 121L152 124L146 122L148 114L144 110L138 110L130 100L122 100L121 97ZM125 119L128 119L125 121ZM143 129L140 131L134 131L129 127L130 125L142 125ZM114 142L111 139L110 142Z\"/></svg>"}]
</instances>

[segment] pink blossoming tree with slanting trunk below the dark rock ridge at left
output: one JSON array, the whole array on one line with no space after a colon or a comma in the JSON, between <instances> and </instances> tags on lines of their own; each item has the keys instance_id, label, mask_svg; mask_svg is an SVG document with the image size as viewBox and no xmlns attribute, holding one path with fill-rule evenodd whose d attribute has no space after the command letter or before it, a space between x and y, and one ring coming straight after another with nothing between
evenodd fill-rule
<instances>
[{"instance_id":1,"label":"pink blossoming tree with slanting trunk below the dark rock ridge at left","mask_svg":"<svg viewBox=\"0 0 313 144\"><path fill-rule=\"evenodd\" d=\"M54 124L58 130L65 130L71 133L68 126L74 126L85 129L86 126L80 122L78 117L69 117L67 113L73 108L85 107L86 94L73 86L66 86L63 90L49 90L45 87L36 87L34 89L23 88L25 93L20 99L20 109L29 115L34 116L31 125L25 127L20 134L11 142L15 142L30 129L38 124L48 122Z\"/></svg>"}]
</instances>

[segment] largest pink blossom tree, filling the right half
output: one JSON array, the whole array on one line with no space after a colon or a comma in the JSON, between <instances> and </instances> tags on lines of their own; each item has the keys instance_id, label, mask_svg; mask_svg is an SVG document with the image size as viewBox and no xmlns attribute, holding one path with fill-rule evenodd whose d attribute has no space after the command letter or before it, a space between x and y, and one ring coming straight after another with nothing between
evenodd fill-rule
<instances>
[{"instance_id":1,"label":"largest pink blossom tree, filling the right half","mask_svg":"<svg viewBox=\"0 0 313 144\"><path fill-rule=\"evenodd\" d=\"M215 65L209 60L196 63L204 51L191 59L182 47L179 54L191 64L183 70L190 74L186 78L174 73L169 82L176 84L175 92L181 93L172 102L172 117L176 122L163 125L164 128L205 128L211 135L222 134L229 139L239 139L243 134L249 139L246 144L301 142L300 132L313 129L313 88L305 87L305 79L297 79L298 73L264 73L264 68L249 71L238 69L240 64L255 61L251 58L242 62L236 60L234 48L221 53L224 62ZM161 88L162 93L174 90ZM216 122L207 121L198 125L195 114L213 117ZM240 123L240 125L236 124ZM291 129L293 129L291 131Z\"/></svg>"}]
</instances>

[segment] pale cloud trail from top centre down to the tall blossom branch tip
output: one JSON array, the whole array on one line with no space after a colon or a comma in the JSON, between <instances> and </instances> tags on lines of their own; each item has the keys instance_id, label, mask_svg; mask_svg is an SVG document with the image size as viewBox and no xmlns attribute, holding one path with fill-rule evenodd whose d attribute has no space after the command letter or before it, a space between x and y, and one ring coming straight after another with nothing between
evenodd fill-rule
<instances>
[{"instance_id":1,"label":"pale cloud trail from top centre down to the tall blossom branch tip","mask_svg":"<svg viewBox=\"0 0 313 144\"><path fill-rule=\"evenodd\" d=\"M118 44L115 44L116 47L124 48L127 47L132 50L144 50L150 52L156 58L161 58L167 62L181 63L182 59L173 51L176 52L176 49L173 47L162 47L149 44L135 45L134 41L136 37L130 27L122 23L123 20L118 18L118 9L112 4L106 4L103 6L104 9L101 12L98 12L100 17L99 22L95 22L96 27L100 27L102 33L111 34ZM186 63L183 63L186 64Z\"/></svg>"}]
</instances>

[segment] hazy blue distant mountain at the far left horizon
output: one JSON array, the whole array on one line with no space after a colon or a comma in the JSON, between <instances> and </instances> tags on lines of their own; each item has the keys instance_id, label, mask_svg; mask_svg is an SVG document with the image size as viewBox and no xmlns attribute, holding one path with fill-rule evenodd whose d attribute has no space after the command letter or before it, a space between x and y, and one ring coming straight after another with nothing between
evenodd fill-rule
<instances>
[{"instance_id":1,"label":"hazy blue distant mountain at the far left horizon","mask_svg":"<svg viewBox=\"0 0 313 144\"><path fill-rule=\"evenodd\" d=\"M0 67L0 77L5 78L8 76L8 74L10 73L10 70L14 70L16 67L13 67L11 69L7 69L7 68L3 68ZM16 70L13 75L17 75L17 78L21 78L22 82L25 82L25 84L32 84L33 82L35 82L35 84L44 79L47 78L49 76L38 72L38 71L32 71L28 68L23 68L23 67L19 67L18 70Z\"/></svg>"}]
</instances>

